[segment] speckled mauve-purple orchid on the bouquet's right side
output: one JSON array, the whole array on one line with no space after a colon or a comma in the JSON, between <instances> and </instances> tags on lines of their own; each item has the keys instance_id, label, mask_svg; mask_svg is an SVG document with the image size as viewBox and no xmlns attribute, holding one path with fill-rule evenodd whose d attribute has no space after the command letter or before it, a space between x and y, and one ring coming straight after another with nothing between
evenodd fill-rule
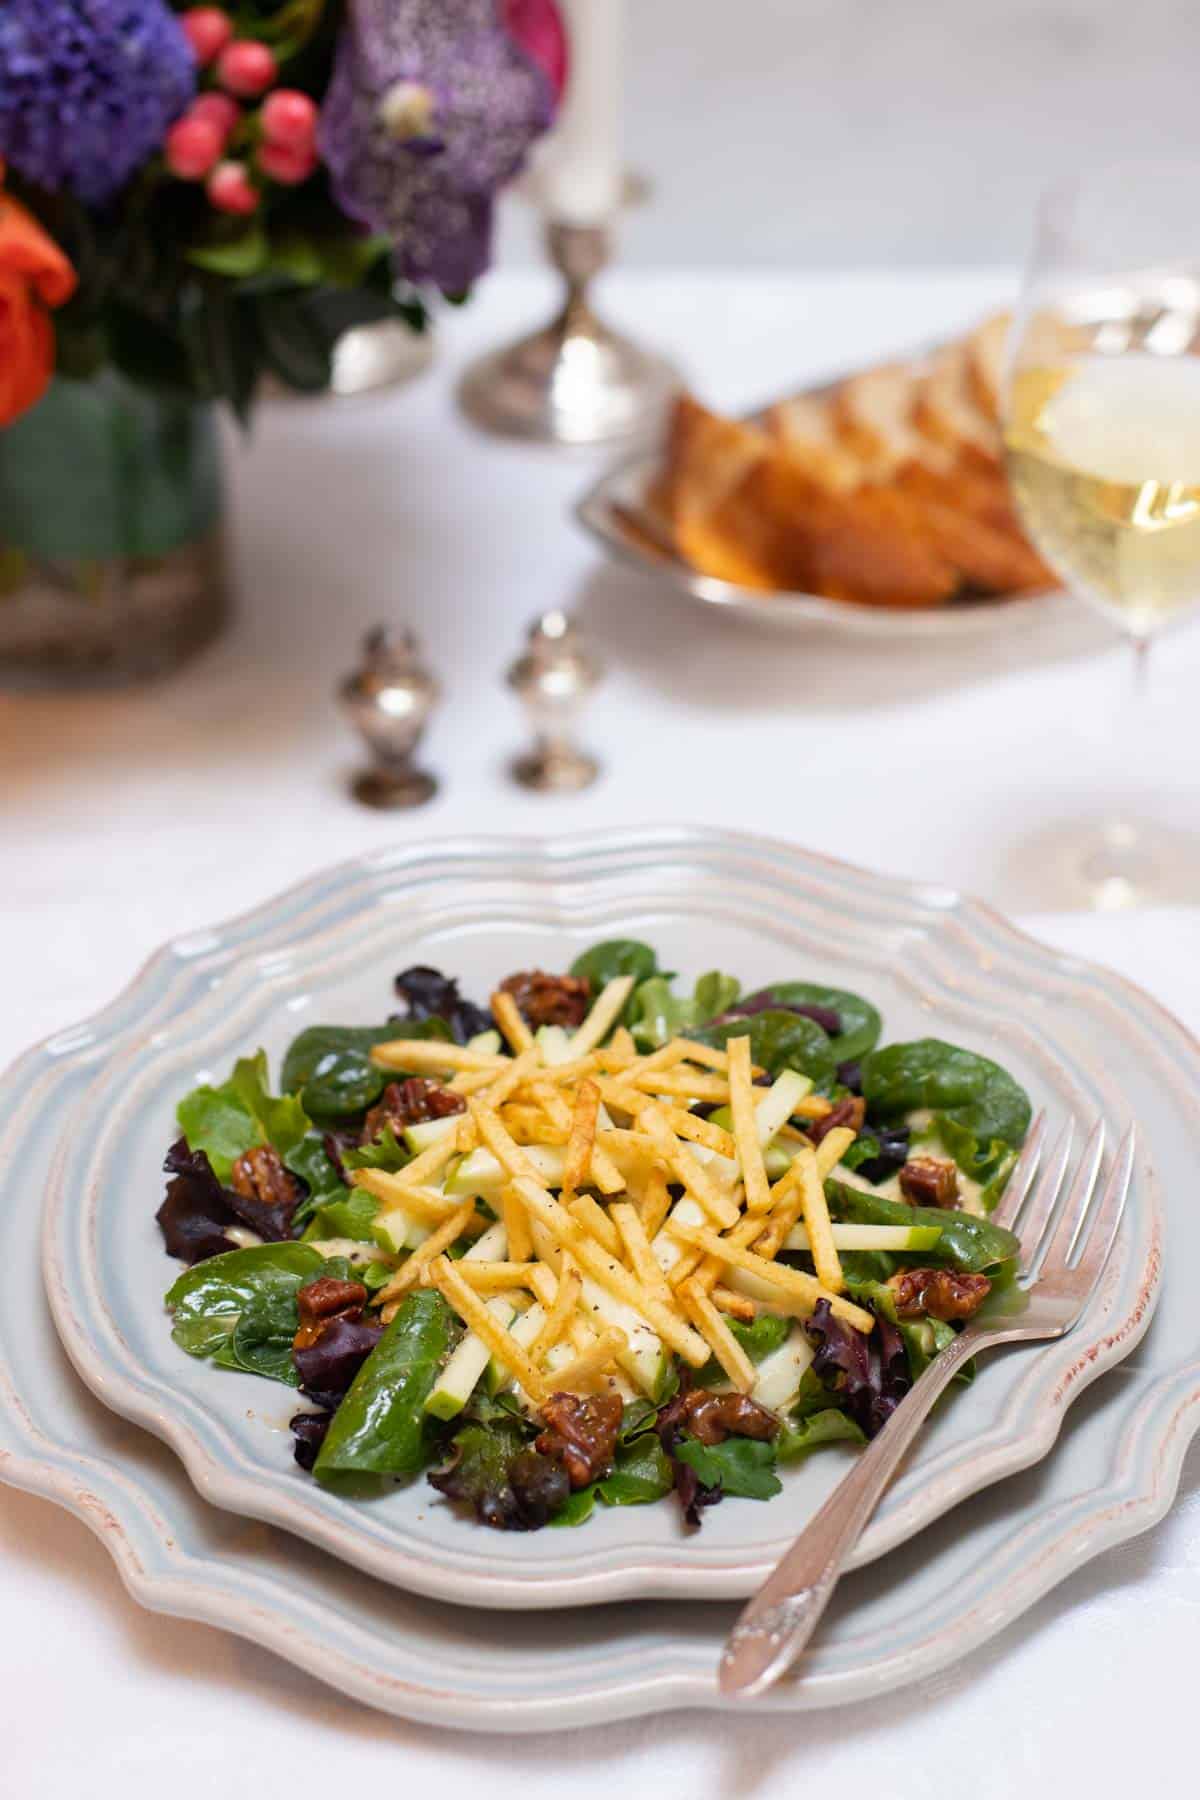
<instances>
[{"instance_id":1,"label":"speckled mauve-purple orchid on the bouquet's right side","mask_svg":"<svg viewBox=\"0 0 1200 1800\"><path fill-rule=\"evenodd\" d=\"M461 293L488 266L497 191L552 117L498 0L356 0L320 151L338 205L392 239L398 274Z\"/></svg>"}]
</instances>

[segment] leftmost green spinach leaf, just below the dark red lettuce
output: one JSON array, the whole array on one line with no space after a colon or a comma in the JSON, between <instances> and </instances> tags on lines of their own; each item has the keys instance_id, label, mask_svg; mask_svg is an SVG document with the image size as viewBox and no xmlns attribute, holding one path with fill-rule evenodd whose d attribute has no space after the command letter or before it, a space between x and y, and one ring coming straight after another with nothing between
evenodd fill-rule
<instances>
[{"instance_id":1,"label":"leftmost green spinach leaf, just below the dark red lettuce","mask_svg":"<svg viewBox=\"0 0 1200 1800\"><path fill-rule=\"evenodd\" d=\"M257 1244L209 1256L167 1289L171 1336L189 1355L295 1388L295 1296L324 1267L333 1265L306 1244Z\"/></svg>"}]
</instances>

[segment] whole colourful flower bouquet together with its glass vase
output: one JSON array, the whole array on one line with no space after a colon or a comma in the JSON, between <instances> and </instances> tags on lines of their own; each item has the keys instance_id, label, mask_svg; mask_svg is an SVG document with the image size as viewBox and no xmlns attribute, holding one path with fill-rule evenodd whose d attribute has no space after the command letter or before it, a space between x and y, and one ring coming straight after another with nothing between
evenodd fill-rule
<instances>
[{"instance_id":1,"label":"whole colourful flower bouquet together with its glass vase","mask_svg":"<svg viewBox=\"0 0 1200 1800\"><path fill-rule=\"evenodd\" d=\"M4 0L0 664L212 634L212 405L462 299L563 79L554 0Z\"/></svg>"}]
</instances>

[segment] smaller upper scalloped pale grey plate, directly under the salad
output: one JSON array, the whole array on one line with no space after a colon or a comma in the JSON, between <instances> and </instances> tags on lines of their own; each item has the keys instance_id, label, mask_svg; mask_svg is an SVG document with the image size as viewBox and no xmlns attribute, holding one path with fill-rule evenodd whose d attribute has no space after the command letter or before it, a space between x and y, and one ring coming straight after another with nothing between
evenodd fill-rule
<instances>
[{"instance_id":1,"label":"smaller upper scalloped pale grey plate, directly under the salad","mask_svg":"<svg viewBox=\"0 0 1200 1800\"><path fill-rule=\"evenodd\" d=\"M725 1501L694 1534L662 1503L601 1508L576 1530L500 1535L423 1480L371 1501L324 1490L291 1460L286 1390L216 1372L171 1341L162 1296L178 1265L164 1255L155 1210L184 1091L221 1078L257 1044L277 1067L302 1024L376 1015L405 963L443 965L466 992L486 994L515 967L563 967L617 932L653 941L685 974L725 967L747 985L811 976L856 988L880 1004L885 1037L945 1035L1004 1062L1051 1125L1067 1112L1081 1123L1103 1114L1121 1130L1139 1111L1148 1033L1130 1008L1106 1003L1090 972L954 895L784 846L689 830L549 846L471 841L315 877L151 961L117 1003L128 1026L94 1057L49 1183L43 1273L59 1336L99 1399L166 1438L205 1499L414 1593L556 1607L743 1597L837 1483L853 1453L828 1449L788 1471L770 1503ZM858 1564L1047 1453L1067 1404L1146 1328L1160 1229L1148 1154L1079 1327L1063 1343L982 1363L977 1382L932 1420Z\"/></svg>"}]
</instances>

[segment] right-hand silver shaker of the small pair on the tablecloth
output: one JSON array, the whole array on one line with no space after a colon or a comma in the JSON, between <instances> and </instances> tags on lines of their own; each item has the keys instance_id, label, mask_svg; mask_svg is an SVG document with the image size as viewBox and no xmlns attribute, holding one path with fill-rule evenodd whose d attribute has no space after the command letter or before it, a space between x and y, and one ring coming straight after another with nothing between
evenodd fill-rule
<instances>
[{"instance_id":1,"label":"right-hand silver shaker of the small pair on the tablecloth","mask_svg":"<svg viewBox=\"0 0 1200 1800\"><path fill-rule=\"evenodd\" d=\"M529 626L525 650L507 671L534 733L533 747L513 761L522 787L563 794L596 781L599 763L578 747L574 725L601 673L569 614L543 612Z\"/></svg>"}]
</instances>

